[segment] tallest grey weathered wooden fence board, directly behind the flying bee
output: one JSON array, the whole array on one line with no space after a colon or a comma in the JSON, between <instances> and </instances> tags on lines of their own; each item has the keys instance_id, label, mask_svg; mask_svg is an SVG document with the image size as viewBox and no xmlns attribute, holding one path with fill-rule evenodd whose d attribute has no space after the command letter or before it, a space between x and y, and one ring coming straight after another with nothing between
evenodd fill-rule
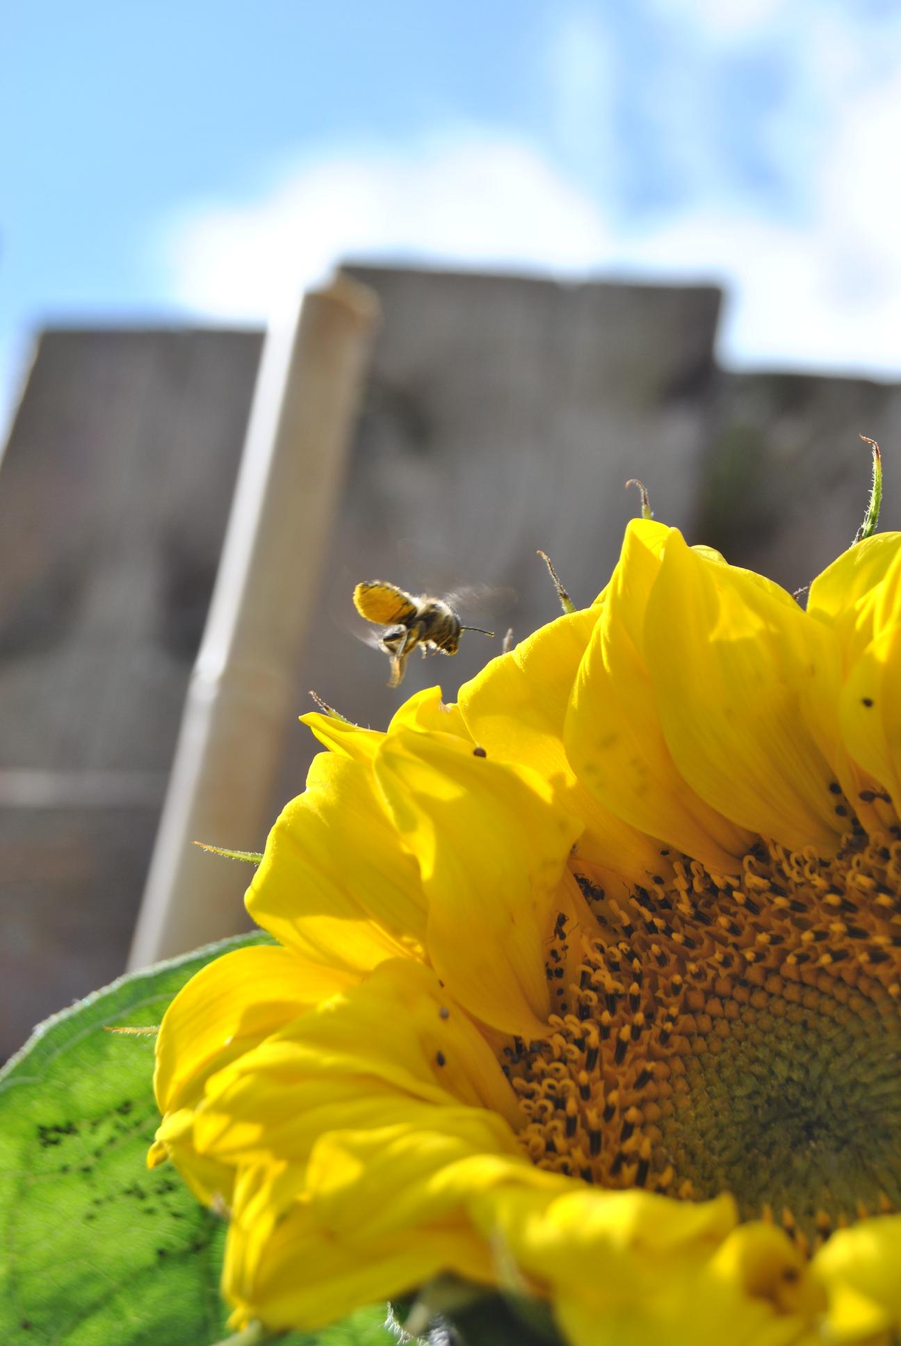
<instances>
[{"instance_id":1,"label":"tallest grey weathered wooden fence board, directly behind the flying bee","mask_svg":"<svg viewBox=\"0 0 901 1346\"><path fill-rule=\"evenodd\" d=\"M694 526L710 439L719 292L558 285L516 277L350 267L384 310L349 485L335 522L322 629L298 699L315 690L384 725L403 696L457 686L497 651L463 635L453 660L411 660L400 690L382 654L353 638L350 592L387 579L413 592L475 590L475 626L523 638L559 612L536 548L576 602L590 602L638 505ZM288 728L283 797L303 785L315 743Z\"/></svg>"}]
</instances>

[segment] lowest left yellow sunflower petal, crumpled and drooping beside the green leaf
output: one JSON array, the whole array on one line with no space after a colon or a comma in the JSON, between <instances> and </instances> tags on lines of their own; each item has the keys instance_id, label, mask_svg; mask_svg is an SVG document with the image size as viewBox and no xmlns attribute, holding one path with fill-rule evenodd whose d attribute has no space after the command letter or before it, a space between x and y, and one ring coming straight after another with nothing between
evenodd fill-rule
<instances>
[{"instance_id":1,"label":"lowest left yellow sunflower petal, crumpled and drooping beside the green leaf","mask_svg":"<svg viewBox=\"0 0 901 1346\"><path fill-rule=\"evenodd\" d=\"M392 1127L325 1135L306 1171L267 1164L238 1180L224 1277L240 1306L234 1326L252 1316L318 1326L440 1272L494 1284L504 1271L469 1205L505 1186L574 1186L533 1168L488 1112L413 1112Z\"/></svg>"}]
</instances>

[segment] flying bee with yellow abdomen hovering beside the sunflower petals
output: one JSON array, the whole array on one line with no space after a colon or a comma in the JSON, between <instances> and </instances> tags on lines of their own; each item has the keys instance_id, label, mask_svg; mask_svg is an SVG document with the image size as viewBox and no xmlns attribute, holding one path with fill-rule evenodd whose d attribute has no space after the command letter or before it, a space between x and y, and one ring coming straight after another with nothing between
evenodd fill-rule
<instances>
[{"instance_id":1,"label":"flying bee with yellow abdomen hovering beside the sunflower petals","mask_svg":"<svg viewBox=\"0 0 901 1346\"><path fill-rule=\"evenodd\" d=\"M481 626L463 626L448 602L427 595L408 594L396 584L382 580L364 580L353 591L354 607L368 622L387 627L378 641L378 649L391 657L391 678L388 686L400 686L407 660L416 646L423 657L434 654L457 654L461 631L479 631L494 635Z\"/></svg>"}]
</instances>

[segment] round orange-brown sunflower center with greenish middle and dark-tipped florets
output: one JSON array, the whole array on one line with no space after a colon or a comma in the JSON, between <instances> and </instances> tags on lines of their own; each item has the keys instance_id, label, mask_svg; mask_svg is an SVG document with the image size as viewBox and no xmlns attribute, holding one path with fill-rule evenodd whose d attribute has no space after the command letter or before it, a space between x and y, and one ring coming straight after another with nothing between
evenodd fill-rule
<instances>
[{"instance_id":1,"label":"round orange-brown sunflower center with greenish middle and dark-tipped florets","mask_svg":"<svg viewBox=\"0 0 901 1346\"><path fill-rule=\"evenodd\" d=\"M625 902L579 883L599 931L559 918L552 1032L504 1054L532 1160L731 1191L808 1248L901 1209L901 841L761 844L734 878L683 859Z\"/></svg>"}]
</instances>

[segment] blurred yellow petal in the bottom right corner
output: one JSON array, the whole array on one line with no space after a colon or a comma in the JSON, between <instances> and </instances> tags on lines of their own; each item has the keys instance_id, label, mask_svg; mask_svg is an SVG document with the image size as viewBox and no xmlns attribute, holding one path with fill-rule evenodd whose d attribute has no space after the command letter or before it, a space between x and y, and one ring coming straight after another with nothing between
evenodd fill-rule
<instances>
[{"instance_id":1,"label":"blurred yellow petal in the bottom right corner","mask_svg":"<svg viewBox=\"0 0 901 1346\"><path fill-rule=\"evenodd\" d=\"M870 1342L901 1331L901 1215L839 1229L813 1257L828 1296L827 1341ZM882 1338L879 1338L882 1341Z\"/></svg>"}]
</instances>

